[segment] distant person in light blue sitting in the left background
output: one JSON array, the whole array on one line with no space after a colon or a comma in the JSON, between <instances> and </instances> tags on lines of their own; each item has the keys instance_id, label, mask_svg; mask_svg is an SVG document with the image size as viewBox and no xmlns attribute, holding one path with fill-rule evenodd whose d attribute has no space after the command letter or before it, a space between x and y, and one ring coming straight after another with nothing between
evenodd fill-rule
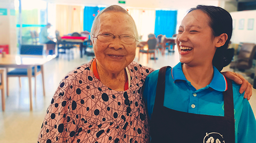
<instances>
[{"instance_id":1,"label":"distant person in light blue sitting in the left background","mask_svg":"<svg viewBox=\"0 0 256 143\"><path fill-rule=\"evenodd\" d=\"M51 27L51 24L50 23L47 23L46 26L42 27L41 28L41 31L39 33L39 43L41 44L56 44L53 39L51 39L49 36L48 36L48 28ZM55 47L55 46L54 46Z\"/></svg>"}]
</instances>

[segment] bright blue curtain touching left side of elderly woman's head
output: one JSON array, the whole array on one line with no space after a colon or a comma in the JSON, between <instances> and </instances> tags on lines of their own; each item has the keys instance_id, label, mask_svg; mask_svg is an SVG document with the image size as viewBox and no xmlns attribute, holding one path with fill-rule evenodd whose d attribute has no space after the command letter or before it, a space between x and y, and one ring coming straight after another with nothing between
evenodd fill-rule
<instances>
[{"instance_id":1,"label":"bright blue curtain touching left side of elderly woman's head","mask_svg":"<svg viewBox=\"0 0 256 143\"><path fill-rule=\"evenodd\" d=\"M104 8L102 7L84 7L84 31L90 32L94 18L97 16L99 11L102 11L103 9Z\"/></svg>"}]
</instances>

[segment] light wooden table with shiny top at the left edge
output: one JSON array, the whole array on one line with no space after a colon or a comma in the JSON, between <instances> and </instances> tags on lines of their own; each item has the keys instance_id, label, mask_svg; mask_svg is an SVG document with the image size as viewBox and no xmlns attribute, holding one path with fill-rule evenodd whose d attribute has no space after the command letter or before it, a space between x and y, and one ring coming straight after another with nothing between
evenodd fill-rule
<instances>
[{"instance_id":1,"label":"light wooden table with shiny top at the left edge","mask_svg":"<svg viewBox=\"0 0 256 143\"><path fill-rule=\"evenodd\" d=\"M7 68L26 68L28 70L28 79L29 79L29 100L30 100L30 110L33 109L32 107L32 67L34 66L41 66L42 72L42 81L43 81L43 94L45 95L44 90L44 64L51 59L53 59L52 55L48 56L37 56L37 55L10 55L6 54L5 57L0 54L0 67ZM37 70L37 68L35 68ZM7 78L7 76L6 76ZM8 92L8 91L7 91ZM4 97L4 96L3 96ZM4 98L3 98L4 100Z\"/></svg>"}]
</instances>

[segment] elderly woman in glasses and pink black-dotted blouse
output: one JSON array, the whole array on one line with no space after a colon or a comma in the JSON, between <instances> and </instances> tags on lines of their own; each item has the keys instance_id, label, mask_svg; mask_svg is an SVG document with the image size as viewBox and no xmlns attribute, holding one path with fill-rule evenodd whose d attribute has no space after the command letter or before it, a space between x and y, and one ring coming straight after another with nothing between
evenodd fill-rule
<instances>
[{"instance_id":1,"label":"elderly woman in glasses and pink black-dotted blouse","mask_svg":"<svg viewBox=\"0 0 256 143\"><path fill-rule=\"evenodd\" d=\"M147 143L141 88L153 70L133 62L134 20L124 8L110 6L96 16L91 34L96 58L60 82L38 143Z\"/></svg>"}]
</instances>

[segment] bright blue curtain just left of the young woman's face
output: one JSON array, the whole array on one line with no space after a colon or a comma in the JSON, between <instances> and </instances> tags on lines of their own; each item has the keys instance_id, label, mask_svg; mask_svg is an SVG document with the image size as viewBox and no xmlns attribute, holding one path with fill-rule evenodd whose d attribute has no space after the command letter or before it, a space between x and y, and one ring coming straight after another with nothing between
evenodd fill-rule
<instances>
[{"instance_id":1,"label":"bright blue curtain just left of the young woman's face","mask_svg":"<svg viewBox=\"0 0 256 143\"><path fill-rule=\"evenodd\" d=\"M155 31L154 34L166 35L172 37L176 33L177 11L156 11Z\"/></svg>"}]
</instances>

